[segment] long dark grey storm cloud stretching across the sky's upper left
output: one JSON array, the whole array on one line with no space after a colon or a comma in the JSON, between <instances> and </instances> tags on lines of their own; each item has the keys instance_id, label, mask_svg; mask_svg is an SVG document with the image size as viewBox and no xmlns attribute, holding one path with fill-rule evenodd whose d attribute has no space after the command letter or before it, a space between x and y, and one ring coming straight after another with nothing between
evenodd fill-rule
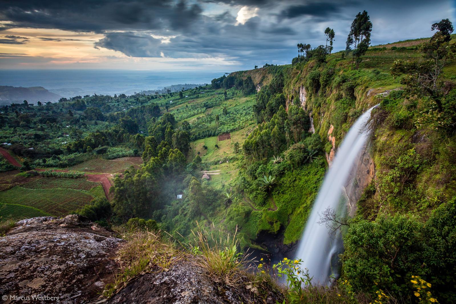
<instances>
[{"instance_id":1,"label":"long dark grey storm cloud stretching across the sky's upper left","mask_svg":"<svg viewBox=\"0 0 456 304\"><path fill-rule=\"evenodd\" d=\"M10 27L69 31L185 30L201 12L186 1L0 1L0 19L11 21Z\"/></svg>"}]
</instances>

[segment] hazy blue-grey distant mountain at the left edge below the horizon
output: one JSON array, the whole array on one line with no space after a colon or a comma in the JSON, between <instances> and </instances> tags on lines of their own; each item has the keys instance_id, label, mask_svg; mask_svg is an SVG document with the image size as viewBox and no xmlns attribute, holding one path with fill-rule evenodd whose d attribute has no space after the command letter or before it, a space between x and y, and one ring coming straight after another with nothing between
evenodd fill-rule
<instances>
[{"instance_id":1,"label":"hazy blue-grey distant mountain at the left edge below the horizon","mask_svg":"<svg viewBox=\"0 0 456 304\"><path fill-rule=\"evenodd\" d=\"M29 103L42 103L48 101L57 101L62 96L49 92L43 87L12 87L12 86L0 86L0 104L10 104L23 102L24 100Z\"/></svg>"}]
</instances>

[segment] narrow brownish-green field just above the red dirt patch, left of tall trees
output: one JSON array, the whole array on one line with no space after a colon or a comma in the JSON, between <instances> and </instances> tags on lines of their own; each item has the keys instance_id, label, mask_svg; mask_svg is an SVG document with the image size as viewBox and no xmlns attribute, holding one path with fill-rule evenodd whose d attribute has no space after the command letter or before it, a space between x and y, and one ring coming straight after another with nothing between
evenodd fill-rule
<instances>
[{"instance_id":1,"label":"narrow brownish-green field just above the red dirt patch, left of tall trees","mask_svg":"<svg viewBox=\"0 0 456 304\"><path fill-rule=\"evenodd\" d=\"M131 165L137 165L136 158L133 158L135 159L135 162L132 162L131 159L132 157L125 157L123 159L116 160L94 159L74 165L68 169L100 173L121 173L128 169Z\"/></svg>"}]
</instances>

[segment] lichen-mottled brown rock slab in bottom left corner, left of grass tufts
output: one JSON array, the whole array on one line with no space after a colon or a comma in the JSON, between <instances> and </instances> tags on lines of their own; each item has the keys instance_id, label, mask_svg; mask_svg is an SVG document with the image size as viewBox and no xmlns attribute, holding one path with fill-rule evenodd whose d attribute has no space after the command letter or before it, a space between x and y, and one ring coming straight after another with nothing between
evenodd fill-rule
<instances>
[{"instance_id":1,"label":"lichen-mottled brown rock slab in bottom left corner, left of grass tufts","mask_svg":"<svg viewBox=\"0 0 456 304\"><path fill-rule=\"evenodd\" d=\"M58 297L59 303L73 304L96 298L113 278L112 257L122 242L78 215L17 222L0 238L0 295L7 297L4 303L56 303Z\"/></svg>"}]
</instances>

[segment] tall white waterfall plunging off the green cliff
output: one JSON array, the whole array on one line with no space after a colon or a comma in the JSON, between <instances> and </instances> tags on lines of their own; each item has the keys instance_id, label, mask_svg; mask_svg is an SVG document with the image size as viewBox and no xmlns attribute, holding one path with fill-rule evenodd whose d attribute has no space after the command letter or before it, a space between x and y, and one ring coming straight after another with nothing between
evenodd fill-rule
<instances>
[{"instance_id":1,"label":"tall white waterfall plunging off the green cliff","mask_svg":"<svg viewBox=\"0 0 456 304\"><path fill-rule=\"evenodd\" d=\"M342 252L341 235L338 233L335 238L332 237L329 228L318 222L320 214L328 207L342 213L346 212L346 207L340 210L342 186L346 183L351 170L356 170L353 168L354 164L368 139L366 123L372 109L377 106L363 113L343 139L307 219L306 228L296 251L296 258L302 259L301 266L308 269L309 275L313 277L313 283L327 285L330 275L337 275L336 272L331 271L331 262L334 258L337 260L337 255Z\"/></svg>"}]
</instances>

